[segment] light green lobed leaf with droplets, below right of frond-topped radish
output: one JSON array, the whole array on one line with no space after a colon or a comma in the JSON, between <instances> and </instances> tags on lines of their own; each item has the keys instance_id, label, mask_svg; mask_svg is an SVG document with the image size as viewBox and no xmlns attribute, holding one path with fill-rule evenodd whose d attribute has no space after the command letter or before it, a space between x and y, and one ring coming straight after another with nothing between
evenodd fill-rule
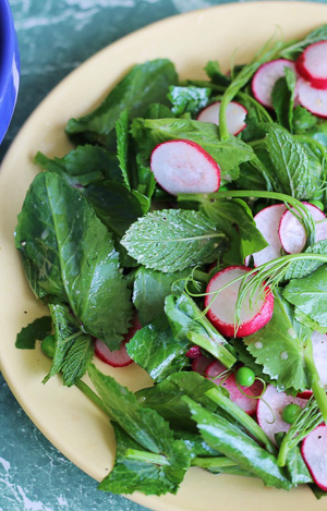
<instances>
[{"instance_id":1,"label":"light green lobed leaf with droplets, below right of frond-topped radish","mask_svg":"<svg viewBox=\"0 0 327 511\"><path fill-rule=\"evenodd\" d=\"M243 341L279 389L301 391L307 387L303 357L306 336L287 302L276 294L270 321Z\"/></svg>"}]
</instances>

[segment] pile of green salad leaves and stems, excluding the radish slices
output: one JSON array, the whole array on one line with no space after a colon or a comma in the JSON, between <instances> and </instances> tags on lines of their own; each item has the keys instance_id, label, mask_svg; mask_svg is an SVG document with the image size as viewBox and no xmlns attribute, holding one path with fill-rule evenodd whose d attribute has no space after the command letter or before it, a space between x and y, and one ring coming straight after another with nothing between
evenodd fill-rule
<instances>
[{"instance_id":1,"label":"pile of green salad leaves and stems, excluding the radish slices","mask_svg":"<svg viewBox=\"0 0 327 511\"><path fill-rule=\"evenodd\" d=\"M61 374L63 385L76 385L111 418L117 458L99 486L104 490L174 494L191 465L256 476L284 489L312 482L298 446L281 440L287 454L279 463L257 423L221 387L190 370L186 352L198 345L227 369L245 364L287 393L313 388L315 417L327 419L311 342L314 330L327 332L327 243L314 243L315 224L300 202L327 206L327 121L294 108L291 70L274 88L274 111L253 98L250 86L263 63L294 60L308 44L326 39L324 25L300 41L270 41L230 76L209 62L207 81L181 83L165 59L135 65L94 112L70 120L65 132L76 147L69 155L35 157L45 172L26 194L15 244L50 319L23 329L16 345L32 349L52 331L45 381ZM226 108L233 98L247 109L238 136L227 131ZM197 121L199 110L216 100L219 127ZM175 199L156 184L152 150L181 138L217 161L219 192ZM267 282L275 311L258 332L228 341L204 312L209 265L242 265L265 248L253 215L280 200L302 215L305 251L281 254L242 282L239 308ZM142 328L128 352L155 385L133 394L92 360L95 338L111 351L120 348L135 311ZM81 379L86 372L96 392Z\"/></svg>"}]
</instances>

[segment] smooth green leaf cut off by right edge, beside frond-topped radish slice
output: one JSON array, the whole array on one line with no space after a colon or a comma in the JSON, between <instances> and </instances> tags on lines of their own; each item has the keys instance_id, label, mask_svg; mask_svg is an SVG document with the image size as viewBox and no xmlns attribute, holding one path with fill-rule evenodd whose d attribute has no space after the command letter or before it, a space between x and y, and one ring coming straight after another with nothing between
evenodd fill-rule
<instances>
[{"instance_id":1,"label":"smooth green leaf cut off by right edge, beside frond-topped radish slice","mask_svg":"<svg viewBox=\"0 0 327 511\"><path fill-rule=\"evenodd\" d=\"M327 265L305 279L291 280L283 296L320 327L327 327Z\"/></svg>"}]
</instances>

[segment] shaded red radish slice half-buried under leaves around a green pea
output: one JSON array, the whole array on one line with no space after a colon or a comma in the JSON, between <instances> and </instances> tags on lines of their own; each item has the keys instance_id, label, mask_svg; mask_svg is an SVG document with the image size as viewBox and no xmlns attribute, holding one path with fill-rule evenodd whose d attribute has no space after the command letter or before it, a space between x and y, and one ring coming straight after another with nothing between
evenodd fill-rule
<instances>
[{"instance_id":1,"label":"shaded red radish slice half-buried under leaves around a green pea","mask_svg":"<svg viewBox=\"0 0 327 511\"><path fill-rule=\"evenodd\" d=\"M222 375L222 377L219 377L221 374L225 374L225 376ZM216 361L207 367L206 377L213 381L213 384L225 387L229 392L230 399L238 404L238 406L244 410L244 412L249 413L249 415L255 414L257 400L254 398L258 398L263 392L264 386L262 381L255 380L251 387L239 388L234 373L226 378L226 367L223 367L220 362Z\"/></svg>"}]
</instances>

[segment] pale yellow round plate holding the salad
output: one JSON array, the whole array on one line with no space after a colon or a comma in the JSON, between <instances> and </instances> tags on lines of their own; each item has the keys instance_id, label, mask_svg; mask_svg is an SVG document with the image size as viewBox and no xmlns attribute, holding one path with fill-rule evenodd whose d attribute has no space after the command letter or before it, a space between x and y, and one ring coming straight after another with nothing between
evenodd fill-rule
<instances>
[{"instance_id":1,"label":"pale yellow round plate holding the salad","mask_svg":"<svg viewBox=\"0 0 327 511\"><path fill-rule=\"evenodd\" d=\"M104 49L71 73L44 100L21 130L0 172L0 363L19 402L44 435L73 463L100 480L112 466L114 440L107 417L77 389L63 388L59 378L41 384L49 369L39 350L14 348L16 332L46 309L34 300L25 281L13 231L33 178L37 150L62 156L70 149L63 127L71 117L90 111L131 65L158 57L170 58L182 78L205 77L203 66L219 60L229 69L249 62L274 34L301 37L327 23L327 7L302 2L235 3L171 17L136 32ZM235 52L237 50L237 52ZM234 53L235 52L235 53ZM100 369L135 390L149 378L136 367ZM14 427L14 425L13 425ZM290 492L264 488L258 479L215 476L192 469L177 496L132 499L154 510L326 510L303 487ZM104 502L106 501L104 496Z\"/></svg>"}]
</instances>

